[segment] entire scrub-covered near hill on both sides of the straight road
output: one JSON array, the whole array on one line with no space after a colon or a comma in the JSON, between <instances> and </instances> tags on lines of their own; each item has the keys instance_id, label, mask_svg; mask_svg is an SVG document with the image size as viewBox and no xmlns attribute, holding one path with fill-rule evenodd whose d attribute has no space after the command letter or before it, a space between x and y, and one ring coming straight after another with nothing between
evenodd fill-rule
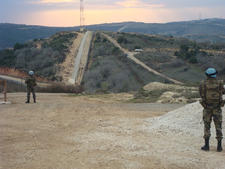
<instances>
[{"instance_id":1,"label":"entire scrub-covered near hill on both sides of the straight road","mask_svg":"<svg viewBox=\"0 0 225 169\"><path fill-rule=\"evenodd\" d=\"M78 32L61 32L49 39L16 44L14 49L0 51L0 67L31 69L41 77L63 82L72 76L81 37ZM134 52L137 48L143 51ZM81 85L88 93L138 91L150 82L173 82L170 79L197 85L208 67L215 67L219 78L225 79L224 58L225 44L99 31L93 35Z\"/></svg>"}]
</instances>

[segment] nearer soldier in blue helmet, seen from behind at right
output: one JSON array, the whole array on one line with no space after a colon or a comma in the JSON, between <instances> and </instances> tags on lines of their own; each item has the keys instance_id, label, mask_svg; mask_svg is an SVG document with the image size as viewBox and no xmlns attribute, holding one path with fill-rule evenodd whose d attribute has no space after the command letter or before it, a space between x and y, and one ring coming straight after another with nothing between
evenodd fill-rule
<instances>
[{"instance_id":1,"label":"nearer soldier in blue helmet, seen from behind at right","mask_svg":"<svg viewBox=\"0 0 225 169\"><path fill-rule=\"evenodd\" d=\"M223 94L225 93L224 84L222 80L217 80L217 71L214 68L208 68L205 72L207 79L201 82L199 92L201 96L201 105L203 110L204 121L204 139L205 145L201 148L204 151L209 151L209 138L211 121L213 119L216 128L216 139L218 141L217 151L222 149L222 109L224 106Z\"/></svg>"}]
</instances>

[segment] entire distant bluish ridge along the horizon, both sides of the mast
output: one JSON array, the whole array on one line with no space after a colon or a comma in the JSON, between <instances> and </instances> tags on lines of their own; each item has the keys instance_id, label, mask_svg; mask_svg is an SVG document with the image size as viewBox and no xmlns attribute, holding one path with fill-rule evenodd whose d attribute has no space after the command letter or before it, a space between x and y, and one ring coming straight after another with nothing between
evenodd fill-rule
<instances>
[{"instance_id":1,"label":"entire distant bluish ridge along the horizon, both sides of the mast","mask_svg":"<svg viewBox=\"0 0 225 169\"><path fill-rule=\"evenodd\" d=\"M17 42L46 38L60 31L78 30L79 27L45 27L0 23L0 49L13 47ZM136 32L185 37L199 42L225 43L225 19L204 19L185 22L141 23L122 22L87 26L89 30Z\"/></svg>"}]
</instances>

